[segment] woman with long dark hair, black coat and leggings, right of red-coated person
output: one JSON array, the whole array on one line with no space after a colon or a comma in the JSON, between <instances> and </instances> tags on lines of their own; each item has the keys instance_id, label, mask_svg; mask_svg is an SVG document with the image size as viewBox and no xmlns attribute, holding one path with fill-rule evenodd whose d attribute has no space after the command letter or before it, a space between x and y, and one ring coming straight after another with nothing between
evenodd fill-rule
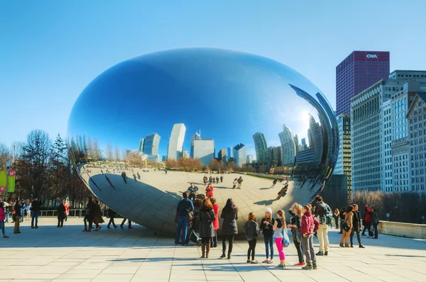
<instances>
[{"instance_id":1,"label":"woman with long dark hair, black coat and leggings, right of red-coated person","mask_svg":"<svg viewBox=\"0 0 426 282\"><path fill-rule=\"evenodd\" d=\"M231 259L232 248L234 247L234 237L238 234L236 220L238 220L238 208L231 198L226 201L220 215L222 222L222 259L226 257L226 242L229 243L228 259Z\"/></svg>"}]
</instances>

